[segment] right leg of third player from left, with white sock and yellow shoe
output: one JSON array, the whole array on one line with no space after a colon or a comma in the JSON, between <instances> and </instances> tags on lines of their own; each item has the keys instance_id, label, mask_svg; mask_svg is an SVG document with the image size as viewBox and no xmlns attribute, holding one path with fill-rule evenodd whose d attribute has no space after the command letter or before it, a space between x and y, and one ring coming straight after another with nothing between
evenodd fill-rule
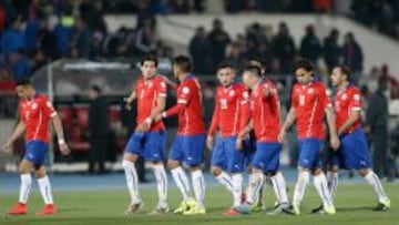
<instances>
[{"instance_id":1,"label":"right leg of third player from left, with white sock and yellow shoe","mask_svg":"<svg viewBox=\"0 0 399 225\"><path fill-rule=\"evenodd\" d=\"M185 163L190 166L193 190L197 207L192 207L184 212L184 215L203 215L205 214L205 180L201 170L204 158L205 135L187 136L183 140L183 151Z\"/></svg>"}]
</instances>

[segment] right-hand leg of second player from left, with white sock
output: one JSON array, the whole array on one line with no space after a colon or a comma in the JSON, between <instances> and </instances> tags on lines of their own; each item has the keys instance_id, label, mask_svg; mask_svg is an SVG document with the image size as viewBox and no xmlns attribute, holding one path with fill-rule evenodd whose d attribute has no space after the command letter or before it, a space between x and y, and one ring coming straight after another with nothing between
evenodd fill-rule
<instances>
[{"instance_id":1,"label":"right-hand leg of second player from left, with white sock","mask_svg":"<svg viewBox=\"0 0 399 225\"><path fill-rule=\"evenodd\" d=\"M167 207L167 176L164 166L164 150L166 132L151 132L144 144L145 161L152 162L152 170L156 180L158 203L152 214L164 214Z\"/></svg>"}]
</instances>

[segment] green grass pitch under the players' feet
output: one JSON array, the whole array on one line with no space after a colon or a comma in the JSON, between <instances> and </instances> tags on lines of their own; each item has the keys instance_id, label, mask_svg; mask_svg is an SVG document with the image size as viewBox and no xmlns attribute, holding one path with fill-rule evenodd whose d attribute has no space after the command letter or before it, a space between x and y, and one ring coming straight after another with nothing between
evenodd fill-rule
<instances>
[{"instance_id":1,"label":"green grass pitch under the players' feet","mask_svg":"<svg viewBox=\"0 0 399 225\"><path fill-rule=\"evenodd\" d=\"M290 190L293 187L290 186ZM399 224L399 185L386 185L386 191L391 198L392 207L388 212L372 212L376 206L375 195L366 184L365 185L340 185L336 198L338 209L336 216L311 215L310 209L319 205L319 198L313 186L303 203L303 215L289 216L277 215L267 216L265 213L255 213L249 216L225 217L223 212L231 205L231 198L222 187L211 187L207 190L205 216L182 216L182 215L160 215L150 216L149 212L153 209L156 203L156 192L145 190L142 197L145 206L142 211L131 217L124 217L122 212L127 205L126 191L101 191L101 192L59 192L54 194L59 214L47 217L37 217L34 212L42 207L42 201L38 193L30 198L29 214L24 216L8 216L4 213L0 216L1 225L11 224L40 224L40 225L122 225L122 224L157 224L157 225L235 225L235 224L370 224L370 225L395 225ZM267 187L267 206L274 203L272 188ZM289 195L291 196L291 192ZM6 212L17 198L17 193L0 195L0 212ZM170 206L176 206L178 203L178 193L175 188L170 190Z\"/></svg>"}]
</instances>

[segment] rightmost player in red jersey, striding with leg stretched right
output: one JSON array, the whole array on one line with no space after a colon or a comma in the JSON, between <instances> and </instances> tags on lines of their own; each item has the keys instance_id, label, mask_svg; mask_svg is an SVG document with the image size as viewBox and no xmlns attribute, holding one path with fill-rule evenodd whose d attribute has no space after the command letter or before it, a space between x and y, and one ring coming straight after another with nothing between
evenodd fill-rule
<instances>
[{"instance_id":1,"label":"rightmost player in red jersey, striding with leg stretched right","mask_svg":"<svg viewBox=\"0 0 399 225\"><path fill-rule=\"evenodd\" d=\"M338 170L357 170L369 183L377 194L378 205L375 211L387 211L390 200L383 192L380 180L371 170L370 151L361 129L361 93L350 83L350 69L347 65L338 65L332 69L331 83L337 89L334 101L336 124L340 147L336 154L328 156L328 187L334 196L338 186ZM314 209L319 213L323 207Z\"/></svg>"}]
</instances>

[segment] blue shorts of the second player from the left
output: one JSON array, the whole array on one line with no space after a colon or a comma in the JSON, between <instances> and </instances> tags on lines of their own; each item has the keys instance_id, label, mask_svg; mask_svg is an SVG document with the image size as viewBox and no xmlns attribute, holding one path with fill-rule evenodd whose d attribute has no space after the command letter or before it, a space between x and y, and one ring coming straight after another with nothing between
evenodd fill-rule
<instances>
[{"instance_id":1,"label":"blue shorts of the second player from the left","mask_svg":"<svg viewBox=\"0 0 399 225\"><path fill-rule=\"evenodd\" d=\"M129 139L125 151L143 156L145 161L158 162L164 160L166 132L134 132Z\"/></svg>"}]
</instances>

